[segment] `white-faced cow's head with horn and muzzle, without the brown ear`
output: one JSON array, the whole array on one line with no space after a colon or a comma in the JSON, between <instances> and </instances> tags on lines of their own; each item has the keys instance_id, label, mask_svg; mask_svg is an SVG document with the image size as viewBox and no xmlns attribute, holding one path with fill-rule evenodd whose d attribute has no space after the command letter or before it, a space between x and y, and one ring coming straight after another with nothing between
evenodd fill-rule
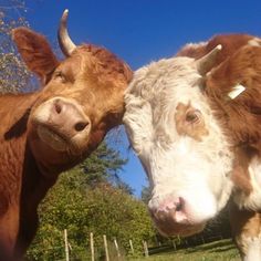
<instances>
[{"instance_id":1,"label":"white-faced cow's head with horn and muzzle, without the brown ear","mask_svg":"<svg viewBox=\"0 0 261 261\"><path fill-rule=\"evenodd\" d=\"M125 95L126 130L153 188L149 210L168 236L202 230L232 190L230 140L202 92L219 50L144 66Z\"/></svg>"}]
</instances>

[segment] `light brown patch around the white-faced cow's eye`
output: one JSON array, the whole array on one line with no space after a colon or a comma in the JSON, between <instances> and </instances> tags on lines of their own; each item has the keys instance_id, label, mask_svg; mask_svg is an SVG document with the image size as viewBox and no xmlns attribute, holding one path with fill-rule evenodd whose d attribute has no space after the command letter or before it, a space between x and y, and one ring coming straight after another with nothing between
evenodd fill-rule
<instances>
[{"instance_id":1,"label":"light brown patch around the white-faced cow's eye","mask_svg":"<svg viewBox=\"0 0 261 261\"><path fill-rule=\"evenodd\" d=\"M194 108L190 103L188 105L179 103L176 109L175 122L179 135L187 135L201 142L202 136L209 134L201 112Z\"/></svg>"}]
</instances>

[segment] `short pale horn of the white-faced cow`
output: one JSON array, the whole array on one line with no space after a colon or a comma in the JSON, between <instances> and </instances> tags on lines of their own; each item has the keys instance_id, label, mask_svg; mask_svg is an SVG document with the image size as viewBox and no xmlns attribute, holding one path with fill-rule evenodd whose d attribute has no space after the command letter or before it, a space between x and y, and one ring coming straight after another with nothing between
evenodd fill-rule
<instances>
[{"instance_id":1,"label":"short pale horn of the white-faced cow","mask_svg":"<svg viewBox=\"0 0 261 261\"><path fill-rule=\"evenodd\" d=\"M222 45L217 45L212 51L210 51L205 56L196 61L198 72L203 76L206 75L213 66L217 54L221 51Z\"/></svg>"}]
</instances>

